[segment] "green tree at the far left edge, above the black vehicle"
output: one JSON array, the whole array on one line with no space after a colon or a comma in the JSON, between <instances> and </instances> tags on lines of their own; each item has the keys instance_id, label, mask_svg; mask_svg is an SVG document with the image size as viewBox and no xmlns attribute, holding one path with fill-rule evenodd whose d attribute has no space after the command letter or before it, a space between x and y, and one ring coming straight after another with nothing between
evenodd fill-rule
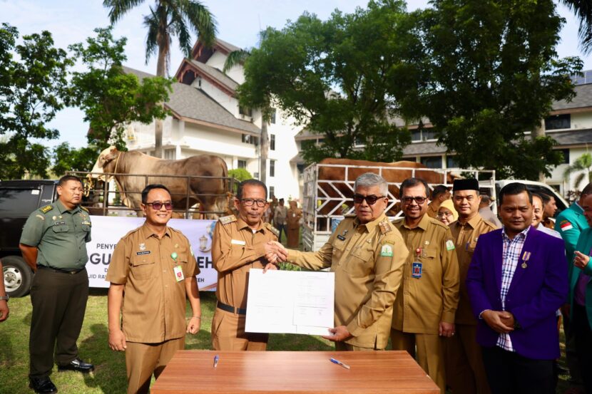
<instances>
[{"instance_id":1,"label":"green tree at the far left edge, above the black vehicle","mask_svg":"<svg viewBox=\"0 0 592 394\"><path fill-rule=\"evenodd\" d=\"M47 176L50 155L43 140L58 138L46 123L66 105L66 51L53 46L49 31L23 36L0 28L0 178ZM16 55L16 56L15 56Z\"/></svg>"}]
</instances>

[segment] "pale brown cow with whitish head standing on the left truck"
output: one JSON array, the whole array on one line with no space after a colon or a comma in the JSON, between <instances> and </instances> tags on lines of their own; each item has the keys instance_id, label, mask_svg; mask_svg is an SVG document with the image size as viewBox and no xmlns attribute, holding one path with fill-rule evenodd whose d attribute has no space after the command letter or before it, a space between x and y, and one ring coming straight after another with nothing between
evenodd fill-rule
<instances>
[{"instance_id":1,"label":"pale brown cow with whitish head standing on the left truck","mask_svg":"<svg viewBox=\"0 0 592 394\"><path fill-rule=\"evenodd\" d=\"M121 192L121 201L131 209L140 209L140 192L146 185L155 183L168 187L174 209L184 211L187 206L200 202L200 212L215 219L218 214L214 212L225 212L228 207L228 168L218 156L197 155L183 160L162 160L142 152L120 152L116 147L108 147L98 156L92 172L119 174L114 178Z\"/></svg>"}]
</instances>

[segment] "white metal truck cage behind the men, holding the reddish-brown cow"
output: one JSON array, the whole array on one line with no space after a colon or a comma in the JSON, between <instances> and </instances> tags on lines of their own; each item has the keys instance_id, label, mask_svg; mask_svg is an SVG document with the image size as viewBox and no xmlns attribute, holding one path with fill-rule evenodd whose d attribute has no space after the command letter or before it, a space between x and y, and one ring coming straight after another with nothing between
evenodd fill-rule
<instances>
[{"instance_id":1,"label":"white metal truck cage behind the men, holding the reddish-brown cow","mask_svg":"<svg viewBox=\"0 0 592 394\"><path fill-rule=\"evenodd\" d=\"M319 172L322 167L340 167L344 170L345 176L342 180L321 180L319 179ZM448 175L455 175L470 178L474 177L479 181L479 188L481 192L485 192L491 197L495 198L495 170L465 170L461 168L415 168L415 167L383 167L379 165L339 165L339 164L322 164L315 163L305 168L303 174L304 189L302 197L302 217L304 224L302 225L302 245L307 251L316 251L320 249L329 239L332 232L337 227L337 224L347 214L354 213L353 195L354 195L354 180L349 180L349 172L352 169L363 169L364 172L374 172L378 175L383 175L385 170L408 170L411 171L412 177L422 177L422 172L437 172L442 174L444 182L438 184L428 183L429 187L433 188L437 185L445 185L452 187L451 183L446 182ZM386 179L386 178L385 178ZM387 212L393 212L397 209L397 204L400 203L399 196L392 195L391 187L401 186L402 182L388 182L389 192L387 197ZM337 195L337 197L331 196ZM345 192L344 192L345 191ZM400 205L399 205L400 206ZM329 209L329 212L321 213L323 208ZM492 207L495 209L495 204ZM494 212L496 212L494 210ZM387 214L389 219L394 220L402 217L402 211L399 209L394 215Z\"/></svg>"}]
</instances>

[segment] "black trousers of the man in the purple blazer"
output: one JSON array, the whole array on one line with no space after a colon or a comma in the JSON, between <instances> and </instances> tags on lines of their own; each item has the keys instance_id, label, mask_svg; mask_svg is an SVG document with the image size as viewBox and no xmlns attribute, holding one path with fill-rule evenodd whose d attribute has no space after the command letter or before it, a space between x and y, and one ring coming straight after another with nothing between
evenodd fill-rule
<instances>
[{"instance_id":1,"label":"black trousers of the man in the purple blazer","mask_svg":"<svg viewBox=\"0 0 592 394\"><path fill-rule=\"evenodd\" d=\"M536 360L499 346L481 346L492 394L554 394L557 385L554 360Z\"/></svg>"}]
</instances>

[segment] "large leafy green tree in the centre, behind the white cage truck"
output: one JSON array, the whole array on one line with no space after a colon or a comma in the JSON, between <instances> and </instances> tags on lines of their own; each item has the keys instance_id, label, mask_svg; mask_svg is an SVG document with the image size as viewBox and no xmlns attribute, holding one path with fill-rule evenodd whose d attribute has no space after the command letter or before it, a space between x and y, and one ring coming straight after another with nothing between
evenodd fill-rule
<instances>
[{"instance_id":1,"label":"large leafy green tree in the centre, behind the white cage truck","mask_svg":"<svg viewBox=\"0 0 592 394\"><path fill-rule=\"evenodd\" d=\"M282 30L267 28L245 59L240 103L281 108L324 135L321 145L302 148L307 162L397 160L410 136L392 118L417 85L415 29L404 2L394 0L370 1L352 14L335 11L327 21L305 13Z\"/></svg>"}]
</instances>

